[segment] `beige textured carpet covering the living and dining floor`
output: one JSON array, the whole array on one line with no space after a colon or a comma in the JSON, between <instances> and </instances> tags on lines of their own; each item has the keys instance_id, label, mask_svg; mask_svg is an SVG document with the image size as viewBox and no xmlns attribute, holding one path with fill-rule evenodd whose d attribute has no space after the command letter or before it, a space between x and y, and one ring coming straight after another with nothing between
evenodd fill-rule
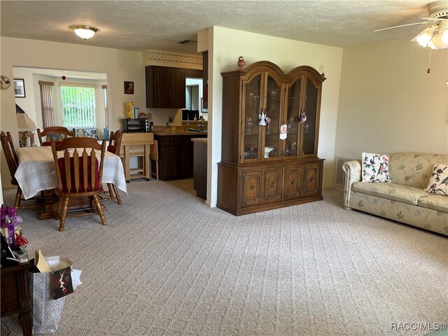
<instances>
[{"instance_id":1,"label":"beige textured carpet covering the living and dining floor","mask_svg":"<svg viewBox=\"0 0 448 336\"><path fill-rule=\"evenodd\" d=\"M31 251L83 270L52 335L424 335L391 325L448 320L447 237L346 211L342 190L239 217L154 179L128 190L106 227L20 211Z\"/></svg>"}]
</instances>

